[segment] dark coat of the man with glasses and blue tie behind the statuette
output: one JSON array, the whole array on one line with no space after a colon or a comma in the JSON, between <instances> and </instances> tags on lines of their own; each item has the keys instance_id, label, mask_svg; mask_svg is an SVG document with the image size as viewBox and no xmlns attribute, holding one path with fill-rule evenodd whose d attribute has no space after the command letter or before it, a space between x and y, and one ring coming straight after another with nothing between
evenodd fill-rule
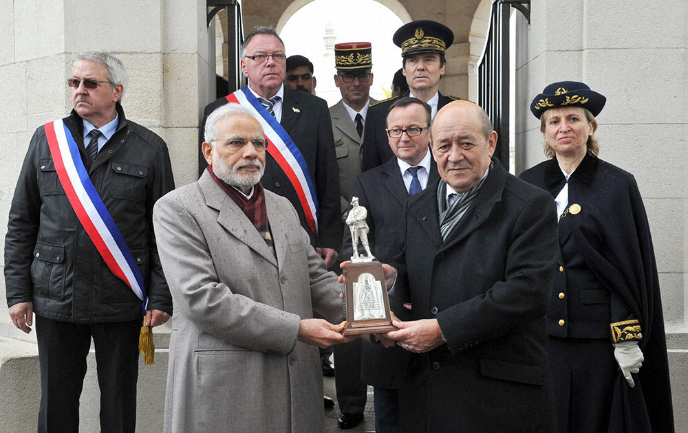
<instances>
[{"instance_id":1,"label":"dark coat of the man with glasses and blue tie behind the statuette","mask_svg":"<svg viewBox=\"0 0 688 433\"><path fill-rule=\"evenodd\" d=\"M440 179L437 164L430 159L428 185ZM376 260L393 262L404 249L406 238L406 203L409 192L401 177L396 157L385 164L356 176L352 195L368 210L368 242ZM359 245L363 253L363 248ZM352 256L351 232L344 231L343 259ZM395 310L399 318L408 317L407 310ZM385 348L363 338L361 380L377 388L396 389L406 376L409 352L398 346Z\"/></svg>"}]
</instances>

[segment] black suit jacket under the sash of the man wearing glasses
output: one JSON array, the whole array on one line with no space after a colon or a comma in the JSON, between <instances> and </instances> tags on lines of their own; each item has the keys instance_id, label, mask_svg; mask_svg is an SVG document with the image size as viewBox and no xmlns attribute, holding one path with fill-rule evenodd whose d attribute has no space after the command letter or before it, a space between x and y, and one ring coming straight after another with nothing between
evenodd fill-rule
<instances>
[{"instance_id":1,"label":"black suit jacket under the sash of the man wearing glasses","mask_svg":"<svg viewBox=\"0 0 688 433\"><path fill-rule=\"evenodd\" d=\"M208 115L226 103L226 98L220 98L208 104L201 131L205 129ZM266 153L265 174L261 178L261 183L266 190L286 197L292 203L313 246L339 249L342 238L339 178L327 102L317 96L285 87L282 118L279 123L297 145L308 166L319 204L317 236L308 228L296 190L270 153Z\"/></svg>"}]
</instances>

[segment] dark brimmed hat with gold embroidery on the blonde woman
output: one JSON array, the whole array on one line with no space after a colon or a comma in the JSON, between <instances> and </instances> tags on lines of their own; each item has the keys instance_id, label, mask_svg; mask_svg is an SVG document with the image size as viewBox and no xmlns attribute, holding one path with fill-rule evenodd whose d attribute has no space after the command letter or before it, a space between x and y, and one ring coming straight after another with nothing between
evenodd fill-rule
<instances>
[{"instance_id":1,"label":"dark brimmed hat with gold embroidery on the blonde woman","mask_svg":"<svg viewBox=\"0 0 688 433\"><path fill-rule=\"evenodd\" d=\"M583 107L590 110L596 116L604 108L607 98L590 87L584 82L578 81L559 81L545 87L533 102L530 102L530 111L536 118L540 118L542 113L548 109L559 107Z\"/></svg>"}]
</instances>

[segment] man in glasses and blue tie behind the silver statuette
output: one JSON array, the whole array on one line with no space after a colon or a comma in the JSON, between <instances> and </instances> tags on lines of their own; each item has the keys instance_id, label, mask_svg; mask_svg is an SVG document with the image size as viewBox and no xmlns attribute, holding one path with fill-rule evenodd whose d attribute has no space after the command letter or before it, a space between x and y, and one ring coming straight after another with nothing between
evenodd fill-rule
<instances>
[{"instance_id":1,"label":"man in glasses and blue tie behind the silver statuette","mask_svg":"<svg viewBox=\"0 0 688 433\"><path fill-rule=\"evenodd\" d=\"M389 147L396 157L361 173L352 195L368 210L368 239L376 260L394 261L406 237L406 202L411 192L423 190L440 179L429 152L431 108L416 98L394 101L387 115ZM344 231L342 256L352 256L349 230ZM400 317L402 311L398 311ZM398 388L406 375L409 353L400 347L385 348L362 338L361 379L374 387L375 430L396 432L399 421ZM351 343L350 343L351 344Z\"/></svg>"}]
</instances>

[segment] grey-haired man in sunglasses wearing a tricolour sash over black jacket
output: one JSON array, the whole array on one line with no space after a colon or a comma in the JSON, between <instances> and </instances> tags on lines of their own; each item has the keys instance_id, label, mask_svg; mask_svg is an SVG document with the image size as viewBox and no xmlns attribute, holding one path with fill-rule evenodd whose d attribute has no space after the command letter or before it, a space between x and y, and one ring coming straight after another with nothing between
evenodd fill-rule
<instances>
[{"instance_id":1,"label":"grey-haired man in sunglasses wearing a tricolour sash over black jacket","mask_svg":"<svg viewBox=\"0 0 688 433\"><path fill-rule=\"evenodd\" d=\"M162 139L125 119L118 58L80 54L67 85L74 110L36 129L14 190L9 313L25 333L36 313L39 432L78 432L91 340L100 428L133 432L142 315L157 326L172 313L152 221L155 201L174 189L172 168Z\"/></svg>"}]
</instances>

